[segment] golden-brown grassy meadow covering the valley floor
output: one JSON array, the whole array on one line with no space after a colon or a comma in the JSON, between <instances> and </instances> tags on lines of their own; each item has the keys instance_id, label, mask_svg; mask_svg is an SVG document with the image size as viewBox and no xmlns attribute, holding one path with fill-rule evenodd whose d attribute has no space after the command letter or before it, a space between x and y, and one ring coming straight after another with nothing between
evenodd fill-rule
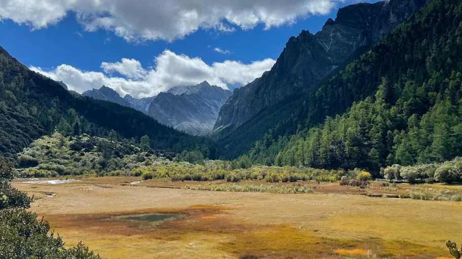
<instances>
[{"instance_id":1,"label":"golden-brown grassy meadow covering the valley floor","mask_svg":"<svg viewBox=\"0 0 462 259\"><path fill-rule=\"evenodd\" d=\"M287 194L158 188L197 184L166 180L130 184L140 180L136 177L80 180L21 180L13 186L35 195L31 210L50 221L68 245L83 241L105 258L441 259L449 255L446 240L462 241L457 228L462 203L347 194L385 193L375 185L359 190L304 183L316 187L314 192ZM399 185L397 192L412 188ZM155 213L184 217L161 222L125 218Z\"/></svg>"}]
</instances>

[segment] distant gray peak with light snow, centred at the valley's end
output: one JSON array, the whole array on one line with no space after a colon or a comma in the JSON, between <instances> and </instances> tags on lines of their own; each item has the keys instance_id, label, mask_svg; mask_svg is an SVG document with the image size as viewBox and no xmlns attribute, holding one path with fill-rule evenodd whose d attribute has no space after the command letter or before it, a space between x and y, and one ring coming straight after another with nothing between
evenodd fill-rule
<instances>
[{"instance_id":1,"label":"distant gray peak with light snow, centred at the valley's end","mask_svg":"<svg viewBox=\"0 0 462 259\"><path fill-rule=\"evenodd\" d=\"M174 87L159 93L152 101L148 115L178 130L203 135L210 132L218 111L231 92L206 81L189 87Z\"/></svg>"}]
</instances>

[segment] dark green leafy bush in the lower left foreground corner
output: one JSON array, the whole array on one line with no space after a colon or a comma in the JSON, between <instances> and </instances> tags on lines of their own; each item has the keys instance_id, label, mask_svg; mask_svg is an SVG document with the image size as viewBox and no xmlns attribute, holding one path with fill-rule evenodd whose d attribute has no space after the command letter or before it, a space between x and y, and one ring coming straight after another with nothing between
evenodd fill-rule
<instances>
[{"instance_id":1,"label":"dark green leafy bush in the lower left foreground corner","mask_svg":"<svg viewBox=\"0 0 462 259\"><path fill-rule=\"evenodd\" d=\"M11 187L12 165L0 159L0 258L98 259L81 243L65 248L60 237L49 235L48 222L26 211L32 198Z\"/></svg>"}]
</instances>

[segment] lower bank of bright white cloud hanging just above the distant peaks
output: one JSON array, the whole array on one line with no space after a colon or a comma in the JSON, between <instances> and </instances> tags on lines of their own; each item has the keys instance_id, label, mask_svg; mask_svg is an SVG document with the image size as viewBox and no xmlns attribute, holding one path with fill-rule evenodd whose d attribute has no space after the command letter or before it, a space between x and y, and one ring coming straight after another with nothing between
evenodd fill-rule
<instances>
[{"instance_id":1,"label":"lower bank of bright white cloud hanging just above the distant peaks","mask_svg":"<svg viewBox=\"0 0 462 259\"><path fill-rule=\"evenodd\" d=\"M103 62L103 72L82 71L67 64L61 64L51 71L44 71L38 67L30 69L53 80L63 81L69 89L80 93L106 85L121 96L128 93L142 98L166 91L173 86L195 85L204 80L225 89L227 85L244 85L270 70L275 62L270 58L249 64L225 60L209 66L199 57L191 58L165 50L155 58L155 67L150 69L144 69L138 60L127 58L115 63ZM114 72L124 77L112 76Z\"/></svg>"}]
</instances>

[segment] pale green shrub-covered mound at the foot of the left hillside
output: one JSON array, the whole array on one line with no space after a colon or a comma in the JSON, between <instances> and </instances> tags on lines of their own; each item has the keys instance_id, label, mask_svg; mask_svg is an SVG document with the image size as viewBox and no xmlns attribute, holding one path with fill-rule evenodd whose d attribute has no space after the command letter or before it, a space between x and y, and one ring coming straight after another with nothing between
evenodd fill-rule
<instances>
[{"instance_id":1,"label":"pale green shrub-covered mound at the foot of the left hillside","mask_svg":"<svg viewBox=\"0 0 462 259\"><path fill-rule=\"evenodd\" d=\"M114 133L108 139L86 134L43 136L18 154L18 166L31 167L21 171L20 176L131 175L138 167L170 163L175 157L175 153L162 150L143 151L137 143Z\"/></svg>"}]
</instances>

